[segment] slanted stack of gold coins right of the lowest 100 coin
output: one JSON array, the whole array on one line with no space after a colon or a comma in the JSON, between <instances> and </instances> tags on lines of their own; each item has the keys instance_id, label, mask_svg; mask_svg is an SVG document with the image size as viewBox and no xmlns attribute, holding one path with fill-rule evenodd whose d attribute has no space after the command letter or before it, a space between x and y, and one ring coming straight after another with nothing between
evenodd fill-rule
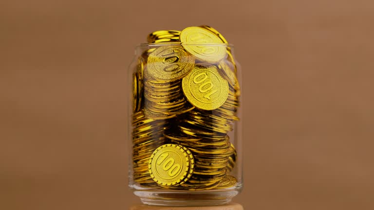
<instances>
[{"instance_id":1,"label":"slanted stack of gold coins right of the lowest 100 coin","mask_svg":"<svg viewBox=\"0 0 374 210\"><path fill-rule=\"evenodd\" d=\"M216 187L226 175L228 160L233 154L229 136L188 123L180 123L178 127L180 131L175 127L165 130L164 136L187 147L195 158L195 171L180 188L208 190Z\"/></svg>"}]
</instances>

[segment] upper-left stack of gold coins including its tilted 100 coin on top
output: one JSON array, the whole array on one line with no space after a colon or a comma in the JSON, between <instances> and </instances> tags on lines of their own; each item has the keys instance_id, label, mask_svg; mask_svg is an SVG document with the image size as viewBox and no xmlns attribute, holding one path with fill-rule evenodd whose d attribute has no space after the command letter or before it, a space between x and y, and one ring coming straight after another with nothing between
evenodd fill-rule
<instances>
[{"instance_id":1,"label":"upper-left stack of gold coins including its tilted 100 coin on top","mask_svg":"<svg viewBox=\"0 0 374 210\"><path fill-rule=\"evenodd\" d=\"M145 114L152 119L168 119L194 108L187 102L182 78L193 68L195 59L182 47L163 46L147 57L145 68Z\"/></svg>"}]
</instances>

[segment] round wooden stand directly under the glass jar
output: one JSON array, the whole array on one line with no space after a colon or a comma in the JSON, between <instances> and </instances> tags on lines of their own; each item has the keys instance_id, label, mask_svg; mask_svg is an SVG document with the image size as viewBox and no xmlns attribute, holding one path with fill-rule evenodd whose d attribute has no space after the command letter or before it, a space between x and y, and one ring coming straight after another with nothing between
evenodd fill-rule
<instances>
[{"instance_id":1,"label":"round wooden stand directly under the glass jar","mask_svg":"<svg viewBox=\"0 0 374 210\"><path fill-rule=\"evenodd\" d=\"M238 203L229 203L221 206L205 207L159 207L147 205L134 205L130 210L243 210L243 206Z\"/></svg>"}]
</instances>

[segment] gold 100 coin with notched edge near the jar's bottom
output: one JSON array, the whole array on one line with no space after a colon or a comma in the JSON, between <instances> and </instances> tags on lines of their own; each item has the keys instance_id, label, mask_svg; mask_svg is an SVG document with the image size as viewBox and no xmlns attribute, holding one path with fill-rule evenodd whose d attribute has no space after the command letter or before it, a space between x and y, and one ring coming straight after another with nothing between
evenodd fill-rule
<instances>
[{"instance_id":1,"label":"gold 100 coin with notched edge near the jar's bottom","mask_svg":"<svg viewBox=\"0 0 374 210\"><path fill-rule=\"evenodd\" d=\"M187 148L177 144L164 144L150 157L150 176L161 186L181 184L193 173L194 163L191 160L193 156Z\"/></svg>"}]
</instances>

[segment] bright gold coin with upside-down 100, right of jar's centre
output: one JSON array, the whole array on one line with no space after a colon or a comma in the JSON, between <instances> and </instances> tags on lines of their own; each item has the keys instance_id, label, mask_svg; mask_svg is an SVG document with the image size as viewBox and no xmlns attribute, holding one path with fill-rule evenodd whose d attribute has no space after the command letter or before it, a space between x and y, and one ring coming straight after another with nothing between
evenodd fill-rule
<instances>
[{"instance_id":1,"label":"bright gold coin with upside-down 100, right of jar's centre","mask_svg":"<svg viewBox=\"0 0 374 210\"><path fill-rule=\"evenodd\" d=\"M228 96L228 83L212 65L195 65L182 80L187 100L194 106L212 110L224 104Z\"/></svg>"}]
</instances>

